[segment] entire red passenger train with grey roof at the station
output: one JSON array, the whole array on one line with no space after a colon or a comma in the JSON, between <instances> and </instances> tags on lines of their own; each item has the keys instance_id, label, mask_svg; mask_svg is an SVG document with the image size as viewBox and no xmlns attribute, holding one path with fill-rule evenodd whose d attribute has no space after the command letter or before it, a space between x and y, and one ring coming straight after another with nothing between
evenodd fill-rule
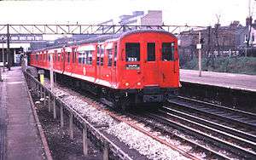
<instances>
[{"instance_id":1,"label":"entire red passenger train with grey roof at the station","mask_svg":"<svg viewBox=\"0 0 256 160\"><path fill-rule=\"evenodd\" d=\"M128 31L36 50L31 66L49 70L49 54L58 77L116 106L163 102L179 87L177 37L167 31Z\"/></svg>"}]
</instances>

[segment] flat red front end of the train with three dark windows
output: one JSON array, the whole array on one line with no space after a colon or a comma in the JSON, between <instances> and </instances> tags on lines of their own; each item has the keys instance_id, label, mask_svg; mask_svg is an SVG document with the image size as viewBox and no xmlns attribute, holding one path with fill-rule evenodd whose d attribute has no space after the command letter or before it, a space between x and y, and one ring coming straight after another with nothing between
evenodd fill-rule
<instances>
[{"instance_id":1,"label":"flat red front end of the train with three dark windows","mask_svg":"<svg viewBox=\"0 0 256 160\"><path fill-rule=\"evenodd\" d=\"M119 89L129 103L163 102L179 87L177 37L135 31L120 39Z\"/></svg>"}]
</instances>

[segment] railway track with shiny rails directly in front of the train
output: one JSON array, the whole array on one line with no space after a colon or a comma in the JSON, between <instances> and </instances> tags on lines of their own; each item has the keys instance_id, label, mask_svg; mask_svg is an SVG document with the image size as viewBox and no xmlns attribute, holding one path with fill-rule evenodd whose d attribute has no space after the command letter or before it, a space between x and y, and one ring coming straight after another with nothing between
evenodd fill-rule
<instances>
[{"instance_id":1,"label":"railway track with shiny rails directly in front of the train","mask_svg":"<svg viewBox=\"0 0 256 160\"><path fill-rule=\"evenodd\" d=\"M205 158L207 159L255 159L256 157L252 149L255 144L247 140L239 139L232 134L225 134L224 132L219 132L217 129L212 129L200 123L186 120L184 117L179 117L168 111L162 111L162 109L154 113L143 113L143 117L142 115L137 117L133 115L131 117L137 118L138 121L147 123L149 127L185 143L184 145L189 144L189 146L193 146L192 151L194 152L206 152L207 155ZM154 121L152 121L152 119L154 119ZM156 122L166 124L167 127L159 125ZM183 133L180 134L173 130L179 130ZM216 136L214 132L221 135ZM236 143L238 143L239 140L241 143L247 142L247 146L238 146L233 143L234 140L236 140ZM247 148L250 146L251 148Z\"/></svg>"}]
</instances>

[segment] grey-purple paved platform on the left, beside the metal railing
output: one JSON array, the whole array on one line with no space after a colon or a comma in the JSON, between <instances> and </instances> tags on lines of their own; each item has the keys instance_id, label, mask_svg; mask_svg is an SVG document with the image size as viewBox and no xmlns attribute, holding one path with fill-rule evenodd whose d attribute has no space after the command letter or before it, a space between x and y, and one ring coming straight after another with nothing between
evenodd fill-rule
<instances>
[{"instance_id":1,"label":"grey-purple paved platform on the left, beside the metal railing","mask_svg":"<svg viewBox=\"0 0 256 160\"><path fill-rule=\"evenodd\" d=\"M21 67L12 67L11 71L2 72L2 77L0 160L46 159Z\"/></svg>"}]
</instances>

